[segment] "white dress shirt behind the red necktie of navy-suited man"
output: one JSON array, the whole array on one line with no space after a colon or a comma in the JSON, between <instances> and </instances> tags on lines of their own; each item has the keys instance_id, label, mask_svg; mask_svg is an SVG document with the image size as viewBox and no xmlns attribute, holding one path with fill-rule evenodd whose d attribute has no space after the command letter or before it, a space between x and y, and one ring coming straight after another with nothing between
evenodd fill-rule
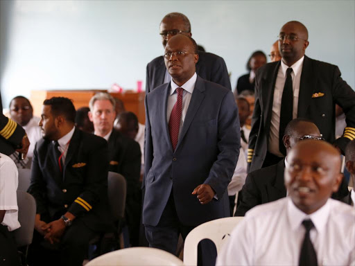
<instances>
[{"instance_id":1,"label":"white dress shirt behind the red necktie of navy-suited man","mask_svg":"<svg viewBox=\"0 0 355 266\"><path fill-rule=\"evenodd\" d=\"M184 85L182 86L176 85L173 79L171 79L171 91L170 91L170 95L168 96L168 106L166 107L166 119L168 123L169 123L171 111L173 110L176 100L178 99L178 92L176 91L176 89L178 89L179 87L184 89L184 92L182 94L182 115L180 121L179 136L181 133L182 125L184 124L187 109L189 108L193 89L195 89L196 80L197 80L196 73L194 73L193 76L189 80L187 80L187 82L185 82Z\"/></svg>"}]
</instances>

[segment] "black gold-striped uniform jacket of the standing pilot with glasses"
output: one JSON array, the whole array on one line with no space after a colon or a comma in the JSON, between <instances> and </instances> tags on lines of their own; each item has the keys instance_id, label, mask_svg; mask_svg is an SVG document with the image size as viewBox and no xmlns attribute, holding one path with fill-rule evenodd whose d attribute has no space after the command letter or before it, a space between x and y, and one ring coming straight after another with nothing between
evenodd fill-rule
<instances>
[{"instance_id":1,"label":"black gold-striped uniform jacket of the standing pilot with glasses","mask_svg":"<svg viewBox=\"0 0 355 266\"><path fill-rule=\"evenodd\" d=\"M277 72L281 62L272 62L257 71L255 78L255 107L249 136L249 172L263 166L268 150L272 102ZM297 118L309 118L317 125L323 138L335 141L335 104L343 108L347 127L335 142L341 150L355 139L355 91L341 77L333 64L313 60L304 55L300 80Z\"/></svg>"}]
</instances>

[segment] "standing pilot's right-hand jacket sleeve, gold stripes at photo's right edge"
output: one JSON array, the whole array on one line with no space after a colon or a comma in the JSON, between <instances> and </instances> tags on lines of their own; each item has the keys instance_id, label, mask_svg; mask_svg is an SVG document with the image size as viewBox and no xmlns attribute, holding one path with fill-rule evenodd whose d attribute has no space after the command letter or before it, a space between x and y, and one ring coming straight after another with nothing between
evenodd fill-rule
<instances>
[{"instance_id":1,"label":"standing pilot's right-hand jacket sleeve, gold stripes at photo's right edge","mask_svg":"<svg viewBox=\"0 0 355 266\"><path fill-rule=\"evenodd\" d=\"M347 143L355 139L355 91L341 78L340 70L336 66L333 77L332 94L335 102L343 108L347 122L343 136L335 141L344 154Z\"/></svg>"}]
</instances>

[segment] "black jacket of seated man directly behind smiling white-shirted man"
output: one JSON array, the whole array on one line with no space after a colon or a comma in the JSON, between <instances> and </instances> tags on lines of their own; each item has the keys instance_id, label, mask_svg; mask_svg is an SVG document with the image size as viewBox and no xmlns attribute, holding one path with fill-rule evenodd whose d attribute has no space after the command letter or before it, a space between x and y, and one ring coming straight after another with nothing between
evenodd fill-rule
<instances>
[{"instance_id":1,"label":"black jacket of seated man directly behind smiling white-shirted man","mask_svg":"<svg viewBox=\"0 0 355 266\"><path fill-rule=\"evenodd\" d=\"M277 199L286 197L284 172L285 159L273 166L250 172L245 179L245 184L241 190L241 201L234 216L244 216L254 206L274 202ZM345 200L348 193L347 183L343 179L338 192L333 193L331 197L349 204L350 202Z\"/></svg>"}]
</instances>

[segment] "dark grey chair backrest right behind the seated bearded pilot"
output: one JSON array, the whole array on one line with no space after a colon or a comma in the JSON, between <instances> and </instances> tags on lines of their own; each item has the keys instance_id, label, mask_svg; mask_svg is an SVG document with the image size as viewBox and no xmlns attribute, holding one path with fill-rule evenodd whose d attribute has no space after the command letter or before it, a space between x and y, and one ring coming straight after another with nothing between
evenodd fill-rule
<instances>
[{"instance_id":1,"label":"dark grey chair backrest right behind the seated bearded pilot","mask_svg":"<svg viewBox=\"0 0 355 266\"><path fill-rule=\"evenodd\" d=\"M123 218L125 214L126 186L125 178L122 175L116 172L108 172L107 196L115 221Z\"/></svg>"}]
</instances>

